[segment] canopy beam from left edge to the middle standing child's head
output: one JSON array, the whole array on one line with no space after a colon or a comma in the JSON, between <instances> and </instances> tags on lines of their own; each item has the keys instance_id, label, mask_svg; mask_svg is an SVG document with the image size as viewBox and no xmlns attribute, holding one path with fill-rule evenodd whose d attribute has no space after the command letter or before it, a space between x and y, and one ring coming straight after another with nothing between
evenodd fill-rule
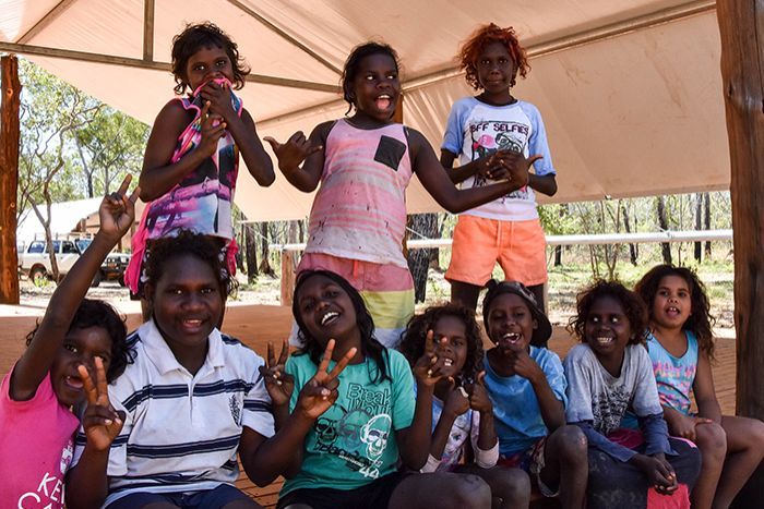
<instances>
[{"instance_id":1,"label":"canopy beam from left edge to the middle standing child's head","mask_svg":"<svg viewBox=\"0 0 764 509\"><path fill-rule=\"evenodd\" d=\"M153 71L170 72L170 64L166 62L146 61L128 57L116 57L114 54L91 53L87 51L73 51L70 49L49 48L45 46L19 45L15 43L0 41L0 51L17 54L33 54L37 57L60 58L65 60L76 60L80 62L104 63L107 65L121 65L127 68L147 69ZM286 77L265 76L263 74L250 74L247 81L262 85L275 85L287 88L300 88L303 90L325 92L337 94L338 85L324 83L305 82L301 80L289 80Z\"/></svg>"}]
</instances>

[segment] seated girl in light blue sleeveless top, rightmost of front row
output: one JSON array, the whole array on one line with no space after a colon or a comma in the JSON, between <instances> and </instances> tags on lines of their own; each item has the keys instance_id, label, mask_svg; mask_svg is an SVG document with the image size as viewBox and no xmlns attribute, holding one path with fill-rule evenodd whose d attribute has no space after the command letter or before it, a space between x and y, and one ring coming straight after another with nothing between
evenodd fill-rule
<instances>
[{"instance_id":1,"label":"seated girl in light blue sleeveless top, rightmost of front row","mask_svg":"<svg viewBox=\"0 0 764 509\"><path fill-rule=\"evenodd\" d=\"M705 287L688 268L658 265L634 289L649 311L647 347L669 433L697 444L703 456L692 505L729 507L764 458L764 423L721 415ZM697 414L690 413L690 391Z\"/></svg>"}]
</instances>

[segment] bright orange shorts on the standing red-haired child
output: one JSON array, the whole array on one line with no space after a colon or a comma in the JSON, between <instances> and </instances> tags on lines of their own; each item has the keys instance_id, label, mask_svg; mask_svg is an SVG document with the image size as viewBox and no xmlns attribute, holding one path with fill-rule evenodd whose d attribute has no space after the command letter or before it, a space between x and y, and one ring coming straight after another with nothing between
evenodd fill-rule
<instances>
[{"instance_id":1,"label":"bright orange shorts on the standing red-haired child","mask_svg":"<svg viewBox=\"0 0 764 509\"><path fill-rule=\"evenodd\" d=\"M459 216L454 229L450 281L482 287L499 262L508 281L526 287L547 281L547 240L538 219L500 221Z\"/></svg>"}]
</instances>

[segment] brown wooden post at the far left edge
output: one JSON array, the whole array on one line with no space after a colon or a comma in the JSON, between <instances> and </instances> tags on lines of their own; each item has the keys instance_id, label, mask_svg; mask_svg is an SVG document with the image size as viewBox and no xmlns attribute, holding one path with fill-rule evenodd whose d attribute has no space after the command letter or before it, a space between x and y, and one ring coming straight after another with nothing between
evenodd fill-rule
<instances>
[{"instance_id":1,"label":"brown wooden post at the far left edge","mask_svg":"<svg viewBox=\"0 0 764 509\"><path fill-rule=\"evenodd\" d=\"M19 60L15 54L4 56L0 58L0 304L19 304Z\"/></svg>"}]
</instances>

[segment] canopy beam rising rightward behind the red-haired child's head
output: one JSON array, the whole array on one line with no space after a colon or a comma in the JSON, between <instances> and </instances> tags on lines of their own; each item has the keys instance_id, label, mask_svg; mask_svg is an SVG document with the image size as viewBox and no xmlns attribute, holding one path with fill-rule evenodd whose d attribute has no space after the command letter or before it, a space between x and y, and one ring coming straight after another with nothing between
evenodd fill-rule
<instances>
[{"instance_id":1,"label":"canopy beam rising rightward behind the red-haired child's head","mask_svg":"<svg viewBox=\"0 0 764 509\"><path fill-rule=\"evenodd\" d=\"M574 48L576 46L597 43L599 40L618 37L620 35L629 34L631 32L638 31L642 28L649 28L652 26L661 25L665 23L680 21L690 16L695 16L714 10L716 10L716 0L693 0L691 2L683 3L678 7L661 9L649 14L631 17L629 20L620 21L617 23L610 23L583 32L577 32L575 34L571 34L564 37L537 41L535 44L530 44L526 48L526 53L528 58L542 57L545 54L550 54L557 51L563 51L570 48ZM422 76L416 76L410 80L407 80L405 83L402 84L403 92L405 94L406 92L432 85L444 80L450 80L464 73L458 68L450 66L441 71L425 74ZM259 124L264 125L266 124L266 122L270 121L280 122L294 118L299 118L312 111L336 107L342 102L342 99L334 99L331 101L322 102L320 105L310 106L300 110L290 111L286 114L279 114L277 117L262 119L259 122Z\"/></svg>"}]
</instances>

